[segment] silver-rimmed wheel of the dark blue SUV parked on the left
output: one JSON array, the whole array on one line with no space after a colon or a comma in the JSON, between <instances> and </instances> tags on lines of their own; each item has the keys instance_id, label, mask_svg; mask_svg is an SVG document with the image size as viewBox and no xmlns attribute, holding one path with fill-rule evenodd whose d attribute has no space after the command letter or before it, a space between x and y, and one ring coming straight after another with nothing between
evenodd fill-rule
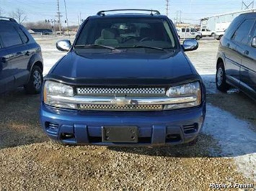
<instances>
[{"instance_id":1,"label":"silver-rimmed wheel of the dark blue SUV parked on the left","mask_svg":"<svg viewBox=\"0 0 256 191\"><path fill-rule=\"evenodd\" d=\"M43 84L43 72L40 67L35 65L30 73L29 82L24 85L24 88L29 94L38 94L41 92Z\"/></svg>"}]
</instances>

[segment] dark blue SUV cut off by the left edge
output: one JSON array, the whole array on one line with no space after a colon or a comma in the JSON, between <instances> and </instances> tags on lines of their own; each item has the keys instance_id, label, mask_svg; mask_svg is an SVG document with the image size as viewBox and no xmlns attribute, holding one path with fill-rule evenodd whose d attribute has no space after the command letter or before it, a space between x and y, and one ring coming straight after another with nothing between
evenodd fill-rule
<instances>
[{"instance_id":1,"label":"dark blue SUV cut off by the left edge","mask_svg":"<svg viewBox=\"0 0 256 191\"><path fill-rule=\"evenodd\" d=\"M14 19L0 17L0 93L24 86L40 93L43 84L41 48Z\"/></svg>"}]
</instances>

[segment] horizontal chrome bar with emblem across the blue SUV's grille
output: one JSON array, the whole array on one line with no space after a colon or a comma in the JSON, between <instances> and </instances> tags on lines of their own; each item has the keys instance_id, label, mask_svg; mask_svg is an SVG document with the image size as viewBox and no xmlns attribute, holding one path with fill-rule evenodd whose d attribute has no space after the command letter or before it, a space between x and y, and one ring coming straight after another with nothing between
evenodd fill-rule
<instances>
[{"instance_id":1,"label":"horizontal chrome bar with emblem across the blue SUV's grille","mask_svg":"<svg viewBox=\"0 0 256 191\"><path fill-rule=\"evenodd\" d=\"M84 97L74 96L65 97L59 95L48 95L52 101L58 101L62 103L74 103L74 104L99 104L99 105L169 105L176 103L190 103L197 101L197 96L187 96L180 98L102 98L102 97Z\"/></svg>"}]
</instances>

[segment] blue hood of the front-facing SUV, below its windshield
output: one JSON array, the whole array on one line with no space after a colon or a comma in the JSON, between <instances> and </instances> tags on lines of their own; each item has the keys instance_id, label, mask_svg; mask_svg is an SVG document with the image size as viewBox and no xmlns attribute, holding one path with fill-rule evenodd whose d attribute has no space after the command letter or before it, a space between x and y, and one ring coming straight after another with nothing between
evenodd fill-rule
<instances>
[{"instance_id":1,"label":"blue hood of the front-facing SUV, below its windshield","mask_svg":"<svg viewBox=\"0 0 256 191\"><path fill-rule=\"evenodd\" d=\"M184 52L146 54L120 52L91 54L71 51L64 56L47 78L66 83L151 83L180 82L200 78ZM160 82L160 81L161 82Z\"/></svg>"}]
</instances>

